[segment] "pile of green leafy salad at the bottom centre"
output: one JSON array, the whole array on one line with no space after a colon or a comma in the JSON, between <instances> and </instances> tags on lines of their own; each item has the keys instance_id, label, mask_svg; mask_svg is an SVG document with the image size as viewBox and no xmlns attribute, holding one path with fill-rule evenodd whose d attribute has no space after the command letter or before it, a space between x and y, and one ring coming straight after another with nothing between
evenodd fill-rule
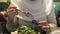
<instances>
[{"instance_id":1,"label":"pile of green leafy salad at the bottom centre","mask_svg":"<svg viewBox=\"0 0 60 34\"><path fill-rule=\"evenodd\" d=\"M34 29L23 25L19 27L16 31L18 31L20 34L37 34Z\"/></svg>"}]
</instances>

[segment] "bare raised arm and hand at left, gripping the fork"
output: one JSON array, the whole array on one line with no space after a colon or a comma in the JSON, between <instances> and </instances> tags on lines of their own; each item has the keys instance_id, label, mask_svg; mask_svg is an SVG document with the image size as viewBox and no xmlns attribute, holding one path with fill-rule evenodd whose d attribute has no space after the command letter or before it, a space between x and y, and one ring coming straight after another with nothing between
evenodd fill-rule
<instances>
[{"instance_id":1,"label":"bare raised arm and hand at left, gripping the fork","mask_svg":"<svg viewBox=\"0 0 60 34\"><path fill-rule=\"evenodd\" d=\"M16 30L16 26L15 26L15 22L14 22L15 18L14 17L18 13L18 11L16 11L15 8L13 8L13 9L10 8L10 10L8 9L7 12L8 12L8 17L7 17L8 22L7 22L6 27L9 31L14 31L14 30Z\"/></svg>"}]
</instances>

